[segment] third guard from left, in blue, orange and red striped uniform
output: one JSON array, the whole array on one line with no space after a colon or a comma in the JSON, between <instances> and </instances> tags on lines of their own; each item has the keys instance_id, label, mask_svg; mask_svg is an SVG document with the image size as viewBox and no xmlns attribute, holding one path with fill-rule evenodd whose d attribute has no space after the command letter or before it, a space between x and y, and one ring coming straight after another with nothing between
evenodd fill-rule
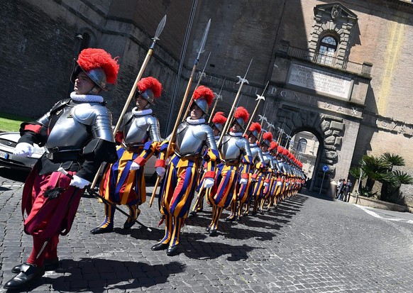
<instances>
[{"instance_id":1,"label":"third guard from left, in blue, orange and red striped uniform","mask_svg":"<svg viewBox=\"0 0 413 293\"><path fill-rule=\"evenodd\" d=\"M152 246L152 250L167 249L167 255L175 255L180 245L182 225L187 219L197 185L197 172L203 158L208 162L204 174L204 187L214 185L215 164L219 160L214 133L205 123L214 99L214 92L199 86L193 94L190 116L177 128L175 141L170 136L160 146L160 158L156 166L165 166L167 144L173 143L173 154L166 166L165 177L160 187L159 207L165 219L165 236Z\"/></svg>"}]
</instances>

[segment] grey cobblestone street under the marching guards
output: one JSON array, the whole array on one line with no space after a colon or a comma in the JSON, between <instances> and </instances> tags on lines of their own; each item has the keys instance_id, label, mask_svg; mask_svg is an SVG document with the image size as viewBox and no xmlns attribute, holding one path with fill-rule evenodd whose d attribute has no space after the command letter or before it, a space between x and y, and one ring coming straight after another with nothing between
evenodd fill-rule
<instances>
[{"instance_id":1,"label":"grey cobblestone street under the marching guards","mask_svg":"<svg viewBox=\"0 0 413 293\"><path fill-rule=\"evenodd\" d=\"M4 168L0 176L4 292L11 267L31 252L31 237L22 232L23 179ZM412 292L412 214L372 216L304 189L241 223L225 222L224 211L219 235L209 237L206 206L187 219L180 254L168 257L150 250L163 237L158 204L141 211L152 232L137 224L123 230L126 217L117 211L114 233L94 236L103 204L83 197L72 231L60 238L60 269L46 272L32 292Z\"/></svg>"}]
</instances>

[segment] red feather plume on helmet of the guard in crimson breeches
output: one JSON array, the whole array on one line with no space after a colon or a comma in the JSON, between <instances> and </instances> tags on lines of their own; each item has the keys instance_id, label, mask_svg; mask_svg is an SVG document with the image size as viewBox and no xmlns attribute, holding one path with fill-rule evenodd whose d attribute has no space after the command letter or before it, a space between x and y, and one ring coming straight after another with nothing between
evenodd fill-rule
<instances>
[{"instance_id":1,"label":"red feather plume on helmet of the guard in crimson breeches","mask_svg":"<svg viewBox=\"0 0 413 293\"><path fill-rule=\"evenodd\" d=\"M118 58L112 56L103 49L87 48L80 52L77 64L82 70L89 71L95 68L102 68L106 74L108 84L116 84L118 78L119 64Z\"/></svg>"}]
</instances>

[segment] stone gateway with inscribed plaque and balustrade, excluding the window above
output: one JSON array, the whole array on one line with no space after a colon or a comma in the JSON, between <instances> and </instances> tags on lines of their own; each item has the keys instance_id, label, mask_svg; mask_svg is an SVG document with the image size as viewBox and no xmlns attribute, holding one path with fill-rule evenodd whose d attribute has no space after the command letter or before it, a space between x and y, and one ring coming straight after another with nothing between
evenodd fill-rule
<instances>
[{"instance_id":1,"label":"stone gateway with inscribed plaque and balustrade, excluding the window above","mask_svg":"<svg viewBox=\"0 0 413 293\"><path fill-rule=\"evenodd\" d=\"M288 44L286 44L287 52ZM265 112L286 139L309 131L319 140L311 189L326 192L330 180L347 178L367 96L371 65L360 72L320 65L279 51L275 58ZM282 74L280 74L282 72ZM279 85L275 85L279 84Z\"/></svg>"}]
</instances>

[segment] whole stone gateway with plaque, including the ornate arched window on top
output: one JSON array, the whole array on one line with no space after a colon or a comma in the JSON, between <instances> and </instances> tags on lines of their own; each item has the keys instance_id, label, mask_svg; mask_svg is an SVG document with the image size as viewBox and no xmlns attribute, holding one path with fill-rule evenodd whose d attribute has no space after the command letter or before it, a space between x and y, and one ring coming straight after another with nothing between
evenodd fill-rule
<instances>
[{"instance_id":1,"label":"whole stone gateway with plaque, including the ornate arched window on top","mask_svg":"<svg viewBox=\"0 0 413 293\"><path fill-rule=\"evenodd\" d=\"M338 2L315 6L308 48L281 41L275 51L266 116L275 131L286 133L283 139L300 131L318 138L310 187L316 191L321 182L326 192L331 179L347 178L363 120L372 65L348 60L358 38L357 21L356 14ZM324 166L329 171L323 181Z\"/></svg>"}]
</instances>

